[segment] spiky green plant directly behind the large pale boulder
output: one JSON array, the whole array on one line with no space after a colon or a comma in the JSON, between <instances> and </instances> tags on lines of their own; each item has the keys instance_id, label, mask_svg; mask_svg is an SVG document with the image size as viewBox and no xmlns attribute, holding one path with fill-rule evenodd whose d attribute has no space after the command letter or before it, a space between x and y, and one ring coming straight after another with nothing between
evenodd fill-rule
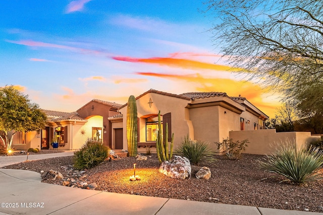
<instances>
[{"instance_id":1,"label":"spiky green plant directly behind the large pale boulder","mask_svg":"<svg viewBox=\"0 0 323 215\"><path fill-rule=\"evenodd\" d=\"M174 153L186 157L193 165L198 165L202 161L216 161L214 158L215 152L209 149L207 142L190 140L188 135L184 137L181 146Z\"/></svg>"}]
</instances>

